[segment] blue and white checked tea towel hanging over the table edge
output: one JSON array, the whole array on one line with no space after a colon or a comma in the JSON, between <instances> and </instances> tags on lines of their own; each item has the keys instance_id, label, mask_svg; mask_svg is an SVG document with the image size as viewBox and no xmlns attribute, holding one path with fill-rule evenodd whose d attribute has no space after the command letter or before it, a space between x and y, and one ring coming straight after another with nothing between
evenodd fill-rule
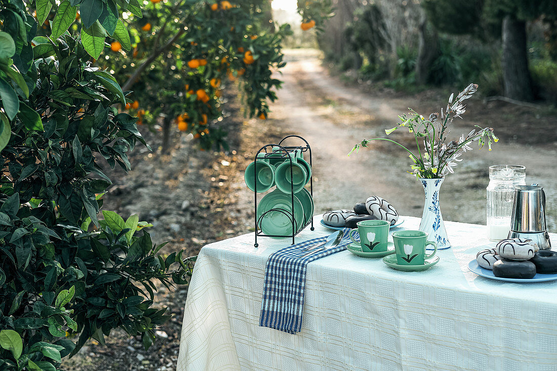
<instances>
[{"instance_id":1,"label":"blue and white checked tea towel hanging over the table edge","mask_svg":"<svg viewBox=\"0 0 557 371\"><path fill-rule=\"evenodd\" d=\"M328 237L323 236L282 248L271 254L265 269L260 326L289 334L301 331L307 263L345 250L352 242L349 237L350 231L350 228L344 228L343 237L334 248L319 250L317 247L313 253L304 250L307 247L323 245Z\"/></svg>"}]
</instances>

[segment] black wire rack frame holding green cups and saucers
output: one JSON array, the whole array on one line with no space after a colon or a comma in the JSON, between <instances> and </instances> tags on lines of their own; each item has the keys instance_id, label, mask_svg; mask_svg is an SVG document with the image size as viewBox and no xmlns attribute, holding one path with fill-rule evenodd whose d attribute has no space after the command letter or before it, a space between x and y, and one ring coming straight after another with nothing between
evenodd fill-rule
<instances>
[{"instance_id":1,"label":"black wire rack frame holding green cups and saucers","mask_svg":"<svg viewBox=\"0 0 557 371\"><path fill-rule=\"evenodd\" d=\"M284 141L290 138L298 138L302 141L304 141L305 145L299 145L299 146L287 146L284 145ZM292 238L292 245L294 245L295 243L295 237L298 233L300 233L302 230L304 230L304 228L306 228L307 226L311 225L311 230L314 231L315 227L313 224L313 217L309 217L309 220L306 220L305 216L304 216L304 224L300 227L298 227L297 222L296 222L296 218L294 216L295 214L295 209L294 209L294 174L292 172L292 158L290 153L295 153L296 150L300 150L301 153L307 153L309 154L309 164L310 167L312 167L312 159L311 159L311 147L309 145L309 143L307 143L307 140L305 140L304 138L302 138L299 135L288 135L285 136L284 138L282 138L278 144L266 144L263 147L260 148L260 150L257 151L255 157L253 158L253 167L254 167L254 177L257 176L257 162L258 160L262 160L262 159L266 159L266 158L273 158L274 160L280 160L282 161L289 161L290 162L290 211L281 209L281 208L272 208L269 209L267 211L265 211L264 213L262 213L259 217L257 216L257 181L255 181L254 179L254 192L253 192L253 199L254 199L254 207L255 207L255 213L253 216L253 219L255 221L255 243L253 244L253 246L258 247L259 244L257 243L257 237L284 237L284 238ZM280 157L278 156L280 155ZM308 183L306 183L307 186ZM310 197L311 197L311 202L313 202L313 175L310 176L309 179L309 193L310 193ZM263 233L260 229L261 226L261 222L263 220L263 217L265 217L265 215L267 213L270 212L280 212L282 214L285 214L287 218L289 218L290 223L292 224L292 233L289 235L266 235L265 233ZM304 213L305 214L305 213Z\"/></svg>"}]
</instances>

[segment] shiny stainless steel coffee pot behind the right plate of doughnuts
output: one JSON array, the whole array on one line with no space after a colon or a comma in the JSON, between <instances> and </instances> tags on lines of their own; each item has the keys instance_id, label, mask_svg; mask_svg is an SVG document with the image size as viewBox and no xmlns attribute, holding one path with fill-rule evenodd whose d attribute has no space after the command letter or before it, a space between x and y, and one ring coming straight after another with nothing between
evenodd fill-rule
<instances>
[{"instance_id":1,"label":"shiny stainless steel coffee pot behind the right plate of doughnuts","mask_svg":"<svg viewBox=\"0 0 557 371\"><path fill-rule=\"evenodd\" d=\"M545 193L538 184L515 186L509 238L527 238L540 250L550 250L548 230L545 226Z\"/></svg>"}]
</instances>

